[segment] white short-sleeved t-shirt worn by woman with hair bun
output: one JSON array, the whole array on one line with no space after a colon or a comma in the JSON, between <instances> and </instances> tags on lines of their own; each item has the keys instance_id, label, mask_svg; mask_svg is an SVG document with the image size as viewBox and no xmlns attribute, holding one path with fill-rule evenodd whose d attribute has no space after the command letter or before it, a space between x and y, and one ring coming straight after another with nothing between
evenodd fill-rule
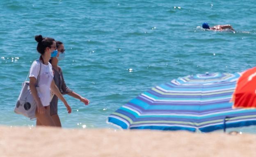
<instances>
[{"instance_id":1,"label":"white short-sleeved t-shirt worn by woman with hair bun","mask_svg":"<svg viewBox=\"0 0 256 157\"><path fill-rule=\"evenodd\" d=\"M43 104L43 106L50 105L50 85L53 81L53 68L52 64L48 62L48 65L45 65L39 60L34 61L30 67L29 77L35 77L39 74L39 68L41 66L40 78L38 82L37 93Z\"/></svg>"}]
</instances>

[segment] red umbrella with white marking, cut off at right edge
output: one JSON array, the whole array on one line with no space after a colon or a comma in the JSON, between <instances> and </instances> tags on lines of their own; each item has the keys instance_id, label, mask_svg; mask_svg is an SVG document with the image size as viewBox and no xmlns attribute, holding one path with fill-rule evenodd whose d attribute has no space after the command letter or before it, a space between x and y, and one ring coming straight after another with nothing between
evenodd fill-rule
<instances>
[{"instance_id":1,"label":"red umbrella with white marking, cut off at right edge","mask_svg":"<svg viewBox=\"0 0 256 157\"><path fill-rule=\"evenodd\" d=\"M242 72L231 101L233 108L256 108L256 67Z\"/></svg>"}]
</instances>

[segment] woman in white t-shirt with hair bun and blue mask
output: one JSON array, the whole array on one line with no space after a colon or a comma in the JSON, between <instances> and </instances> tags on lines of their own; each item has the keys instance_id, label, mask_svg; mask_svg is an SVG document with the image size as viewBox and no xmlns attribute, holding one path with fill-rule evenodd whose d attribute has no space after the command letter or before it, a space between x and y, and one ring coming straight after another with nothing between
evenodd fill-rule
<instances>
[{"instance_id":1,"label":"woman in white t-shirt with hair bun and blue mask","mask_svg":"<svg viewBox=\"0 0 256 157\"><path fill-rule=\"evenodd\" d=\"M71 107L66 102L53 80L52 65L48 62L50 57L56 57L56 42L53 38L43 38L36 35L37 51L41 54L39 62L34 61L30 68L30 90L37 103L37 125L56 126L50 116L50 91L65 104L68 113ZM40 71L40 74L39 74ZM37 83L37 79L39 79ZM37 87L39 86L39 87ZM37 88L36 88L37 87Z\"/></svg>"}]
</instances>

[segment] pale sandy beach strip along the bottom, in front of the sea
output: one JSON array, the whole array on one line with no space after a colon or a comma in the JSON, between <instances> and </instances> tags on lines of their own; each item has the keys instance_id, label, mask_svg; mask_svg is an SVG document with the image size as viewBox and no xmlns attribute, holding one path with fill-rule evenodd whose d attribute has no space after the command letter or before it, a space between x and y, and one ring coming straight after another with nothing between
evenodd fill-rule
<instances>
[{"instance_id":1,"label":"pale sandy beach strip along the bottom, in front of the sea","mask_svg":"<svg viewBox=\"0 0 256 157\"><path fill-rule=\"evenodd\" d=\"M256 135L0 127L0 157L255 157Z\"/></svg>"}]
</instances>

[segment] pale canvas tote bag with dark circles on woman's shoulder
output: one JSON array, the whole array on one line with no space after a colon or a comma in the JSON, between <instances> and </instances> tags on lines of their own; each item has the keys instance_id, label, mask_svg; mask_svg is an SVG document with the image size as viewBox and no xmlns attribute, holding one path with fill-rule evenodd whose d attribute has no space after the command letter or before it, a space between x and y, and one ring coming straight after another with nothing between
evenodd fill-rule
<instances>
[{"instance_id":1,"label":"pale canvas tote bag with dark circles on woman's shoulder","mask_svg":"<svg viewBox=\"0 0 256 157\"><path fill-rule=\"evenodd\" d=\"M36 85L36 89L37 89L37 91L39 91L38 90L38 88L39 88L38 82L40 79L41 63L39 60L36 60L36 62L39 62L39 73L38 73L37 85ZM28 75L29 75L29 73L28 73ZM27 77L28 77L28 75L27 75ZM18 101L14 108L14 112L17 114L21 114L26 117L29 117L30 119L35 119L37 104L34 100L34 97L32 96L31 91L30 91L29 83L30 82L27 81L27 78L26 78L25 82L23 82L23 84L22 84L21 93L18 97Z\"/></svg>"}]
</instances>

